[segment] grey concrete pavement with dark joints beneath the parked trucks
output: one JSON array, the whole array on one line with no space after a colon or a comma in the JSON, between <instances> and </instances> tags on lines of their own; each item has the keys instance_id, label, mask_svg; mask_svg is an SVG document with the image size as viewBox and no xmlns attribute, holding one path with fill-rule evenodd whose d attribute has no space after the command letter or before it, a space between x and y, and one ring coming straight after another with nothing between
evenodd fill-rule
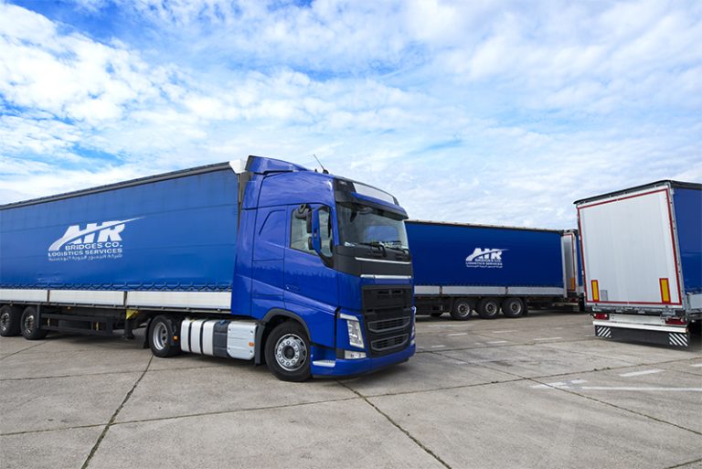
<instances>
[{"instance_id":1,"label":"grey concrete pavement with dark joints beneath the parked trucks","mask_svg":"<svg viewBox=\"0 0 702 469\"><path fill-rule=\"evenodd\" d=\"M284 383L119 338L0 338L0 467L702 467L702 351L587 314L420 317L419 353Z\"/></svg>"}]
</instances>

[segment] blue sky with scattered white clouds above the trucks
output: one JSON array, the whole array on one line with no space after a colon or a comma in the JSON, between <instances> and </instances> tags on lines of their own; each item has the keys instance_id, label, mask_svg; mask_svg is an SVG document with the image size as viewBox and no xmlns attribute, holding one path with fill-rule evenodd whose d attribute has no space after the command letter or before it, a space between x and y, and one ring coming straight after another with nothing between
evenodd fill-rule
<instances>
[{"instance_id":1,"label":"blue sky with scattered white clouds above the trucks","mask_svg":"<svg viewBox=\"0 0 702 469\"><path fill-rule=\"evenodd\" d=\"M697 1L0 0L0 203L268 155L571 228L702 181Z\"/></svg>"}]
</instances>

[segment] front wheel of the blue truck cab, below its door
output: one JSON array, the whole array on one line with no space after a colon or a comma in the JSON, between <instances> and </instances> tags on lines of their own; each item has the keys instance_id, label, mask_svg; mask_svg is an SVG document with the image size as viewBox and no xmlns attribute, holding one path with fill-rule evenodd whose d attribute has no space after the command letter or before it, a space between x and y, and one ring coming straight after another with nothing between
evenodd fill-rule
<instances>
[{"instance_id":1,"label":"front wheel of the blue truck cab, below its door","mask_svg":"<svg viewBox=\"0 0 702 469\"><path fill-rule=\"evenodd\" d=\"M300 382L312 376L312 348L303 326L286 321L276 325L265 345L266 365L276 378Z\"/></svg>"}]
</instances>

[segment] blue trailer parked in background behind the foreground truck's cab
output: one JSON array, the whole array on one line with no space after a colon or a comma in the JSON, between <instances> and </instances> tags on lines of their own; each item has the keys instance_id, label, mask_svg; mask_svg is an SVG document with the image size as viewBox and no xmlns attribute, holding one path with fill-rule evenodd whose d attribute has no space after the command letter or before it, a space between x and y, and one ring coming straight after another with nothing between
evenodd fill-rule
<instances>
[{"instance_id":1,"label":"blue trailer parked in background behind the foreground truck's cab","mask_svg":"<svg viewBox=\"0 0 702 469\"><path fill-rule=\"evenodd\" d=\"M577 250L564 250L554 229L495 227L408 220L418 314L466 320L519 317L527 307L577 304ZM568 257L566 254L571 254Z\"/></svg>"}]
</instances>

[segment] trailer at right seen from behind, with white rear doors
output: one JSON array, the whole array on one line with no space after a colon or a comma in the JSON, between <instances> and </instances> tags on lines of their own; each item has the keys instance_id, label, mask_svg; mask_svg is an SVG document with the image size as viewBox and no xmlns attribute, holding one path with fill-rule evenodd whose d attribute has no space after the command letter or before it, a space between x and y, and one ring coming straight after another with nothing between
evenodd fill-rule
<instances>
[{"instance_id":1,"label":"trailer at right seen from behind, with white rear doors","mask_svg":"<svg viewBox=\"0 0 702 469\"><path fill-rule=\"evenodd\" d=\"M688 346L702 320L702 184L658 181L575 205L595 334Z\"/></svg>"}]
</instances>

